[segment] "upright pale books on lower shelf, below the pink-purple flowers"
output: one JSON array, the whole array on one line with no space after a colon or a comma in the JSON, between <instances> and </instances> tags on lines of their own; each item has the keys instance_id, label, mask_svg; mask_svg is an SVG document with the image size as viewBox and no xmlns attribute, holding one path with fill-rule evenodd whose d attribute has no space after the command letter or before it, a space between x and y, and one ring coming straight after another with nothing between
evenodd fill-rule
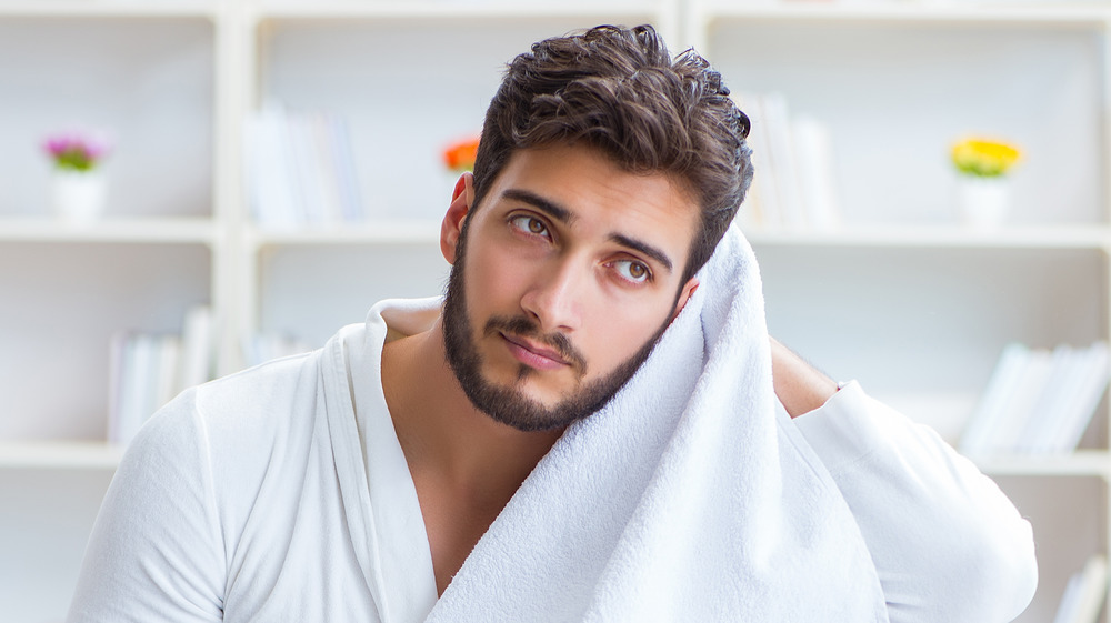
<instances>
[{"instance_id":1,"label":"upright pale books on lower shelf, below the pink-purple flowers","mask_svg":"<svg viewBox=\"0 0 1111 623\"><path fill-rule=\"evenodd\" d=\"M212 313L196 305L180 335L123 331L109 349L108 441L127 444L170 399L212 378Z\"/></svg>"}]
</instances>

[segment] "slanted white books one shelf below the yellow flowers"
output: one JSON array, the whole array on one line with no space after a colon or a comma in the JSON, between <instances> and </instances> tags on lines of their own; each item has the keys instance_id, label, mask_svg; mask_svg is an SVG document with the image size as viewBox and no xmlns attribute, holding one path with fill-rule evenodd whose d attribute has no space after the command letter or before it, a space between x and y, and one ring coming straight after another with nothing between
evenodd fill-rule
<instances>
[{"instance_id":1,"label":"slanted white books one shelf below the yellow flowers","mask_svg":"<svg viewBox=\"0 0 1111 623\"><path fill-rule=\"evenodd\" d=\"M960 440L970 456L1075 450L1108 386L1108 345L1052 351L1012 343Z\"/></svg>"}]
</instances>

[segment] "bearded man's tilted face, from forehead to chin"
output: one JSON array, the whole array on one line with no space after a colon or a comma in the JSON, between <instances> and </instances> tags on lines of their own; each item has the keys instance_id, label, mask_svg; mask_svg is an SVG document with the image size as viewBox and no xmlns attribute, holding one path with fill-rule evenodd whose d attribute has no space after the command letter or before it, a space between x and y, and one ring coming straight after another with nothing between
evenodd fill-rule
<instances>
[{"instance_id":1,"label":"bearded man's tilted face, from forehead to chin","mask_svg":"<svg viewBox=\"0 0 1111 623\"><path fill-rule=\"evenodd\" d=\"M468 201L442 240L444 342L468 398L520 430L593 413L697 287L681 282L697 204L662 174L565 145L514 153L473 218Z\"/></svg>"}]
</instances>

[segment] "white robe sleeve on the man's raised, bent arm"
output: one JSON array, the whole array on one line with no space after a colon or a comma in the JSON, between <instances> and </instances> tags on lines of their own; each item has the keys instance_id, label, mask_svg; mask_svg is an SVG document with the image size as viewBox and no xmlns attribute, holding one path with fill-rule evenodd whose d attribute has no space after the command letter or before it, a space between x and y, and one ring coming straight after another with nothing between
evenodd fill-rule
<instances>
[{"instance_id":1,"label":"white robe sleeve on the man's raised, bent arm","mask_svg":"<svg viewBox=\"0 0 1111 623\"><path fill-rule=\"evenodd\" d=\"M928 426L852 382L792 420L849 504L891 623L1011 621L1038 583L1030 523Z\"/></svg>"}]
</instances>

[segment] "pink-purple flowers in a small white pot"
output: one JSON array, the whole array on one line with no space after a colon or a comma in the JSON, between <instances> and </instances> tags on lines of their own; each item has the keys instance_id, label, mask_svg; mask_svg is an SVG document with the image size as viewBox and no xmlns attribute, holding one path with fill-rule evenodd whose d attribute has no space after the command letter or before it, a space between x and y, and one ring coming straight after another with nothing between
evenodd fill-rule
<instances>
[{"instance_id":1,"label":"pink-purple flowers in a small white pot","mask_svg":"<svg viewBox=\"0 0 1111 623\"><path fill-rule=\"evenodd\" d=\"M90 222L104 210L108 183L101 161L109 145L103 139L68 132L48 137L43 150L53 160L51 205L59 218Z\"/></svg>"}]
</instances>

